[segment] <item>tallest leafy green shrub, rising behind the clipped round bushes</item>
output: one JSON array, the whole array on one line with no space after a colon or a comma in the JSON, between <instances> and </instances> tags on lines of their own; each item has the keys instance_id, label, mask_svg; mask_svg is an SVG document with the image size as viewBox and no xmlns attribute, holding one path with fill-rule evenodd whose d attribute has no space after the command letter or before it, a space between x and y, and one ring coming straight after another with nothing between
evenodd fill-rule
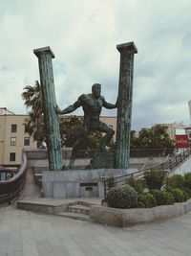
<instances>
[{"instance_id":1,"label":"tallest leafy green shrub, rising behind the clipped round bushes","mask_svg":"<svg viewBox=\"0 0 191 256\"><path fill-rule=\"evenodd\" d=\"M144 179L149 190L160 189L164 183L166 172L158 169L151 169L144 172Z\"/></svg>"}]
</instances>

